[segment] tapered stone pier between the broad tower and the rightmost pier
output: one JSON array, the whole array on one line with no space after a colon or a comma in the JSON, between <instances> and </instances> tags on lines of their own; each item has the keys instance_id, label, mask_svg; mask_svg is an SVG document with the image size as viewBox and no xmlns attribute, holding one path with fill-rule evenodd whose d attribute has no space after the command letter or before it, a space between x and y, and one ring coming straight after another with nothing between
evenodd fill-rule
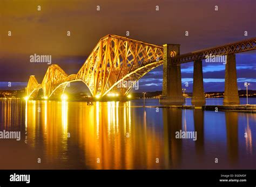
<instances>
[{"instance_id":1,"label":"tapered stone pier between the broad tower and the rightmost pier","mask_svg":"<svg viewBox=\"0 0 256 187\"><path fill-rule=\"evenodd\" d=\"M191 103L195 106L205 105L203 67L201 60L194 61L193 96Z\"/></svg>"}]
</instances>

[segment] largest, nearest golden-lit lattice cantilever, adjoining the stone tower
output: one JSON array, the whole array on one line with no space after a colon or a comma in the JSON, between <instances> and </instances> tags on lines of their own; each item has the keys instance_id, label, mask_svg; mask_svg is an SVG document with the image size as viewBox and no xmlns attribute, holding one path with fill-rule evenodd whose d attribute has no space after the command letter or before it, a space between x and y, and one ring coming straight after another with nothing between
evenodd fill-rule
<instances>
[{"instance_id":1,"label":"largest, nearest golden-lit lattice cantilever, adjoining the stone tower","mask_svg":"<svg viewBox=\"0 0 256 187\"><path fill-rule=\"evenodd\" d=\"M133 40L118 35L107 35L102 38L77 74L77 80L82 80L92 91L92 95L106 95L116 85L124 80L138 81L150 68L144 68L144 73L133 74L138 68L157 67L163 59L163 47L146 42ZM127 77L126 75L130 75ZM134 79L134 76L136 79ZM115 88L116 90L117 88ZM122 95L131 88L122 88Z\"/></svg>"}]
</instances>

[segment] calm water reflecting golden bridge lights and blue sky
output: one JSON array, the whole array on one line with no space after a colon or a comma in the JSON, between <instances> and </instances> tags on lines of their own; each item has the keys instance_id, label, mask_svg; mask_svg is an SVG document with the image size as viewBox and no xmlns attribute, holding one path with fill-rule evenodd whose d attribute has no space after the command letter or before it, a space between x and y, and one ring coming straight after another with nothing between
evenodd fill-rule
<instances>
[{"instance_id":1,"label":"calm water reflecting golden bridge lights and blue sky","mask_svg":"<svg viewBox=\"0 0 256 187\"><path fill-rule=\"evenodd\" d=\"M142 103L0 100L0 131L22 134L21 141L0 139L0 169L256 168L255 113ZM197 131L197 141L176 139L180 130Z\"/></svg>"}]
</instances>

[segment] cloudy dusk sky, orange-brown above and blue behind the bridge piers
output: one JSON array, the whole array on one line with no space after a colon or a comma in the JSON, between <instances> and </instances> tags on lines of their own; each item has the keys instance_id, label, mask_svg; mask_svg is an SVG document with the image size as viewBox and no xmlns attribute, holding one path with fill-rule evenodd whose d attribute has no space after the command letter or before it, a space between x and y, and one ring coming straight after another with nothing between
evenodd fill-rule
<instances>
[{"instance_id":1,"label":"cloudy dusk sky, orange-brown above and blue behind the bridge piers","mask_svg":"<svg viewBox=\"0 0 256 187\"><path fill-rule=\"evenodd\" d=\"M0 89L24 88L30 75L36 75L41 83L49 65L31 63L30 55L35 53L52 55L52 64L76 74L99 39L107 34L126 37L129 31L132 39L156 45L180 44L183 54L256 37L255 20L255 0L1 0ZM238 89L245 89L246 81L251 83L248 89L256 90L256 51L236 57ZM224 91L224 64L203 61L203 72L205 91ZM181 73L183 87L188 82L186 89L192 91L193 63L182 64ZM160 66L140 80L138 91L161 90L162 77Z\"/></svg>"}]
</instances>

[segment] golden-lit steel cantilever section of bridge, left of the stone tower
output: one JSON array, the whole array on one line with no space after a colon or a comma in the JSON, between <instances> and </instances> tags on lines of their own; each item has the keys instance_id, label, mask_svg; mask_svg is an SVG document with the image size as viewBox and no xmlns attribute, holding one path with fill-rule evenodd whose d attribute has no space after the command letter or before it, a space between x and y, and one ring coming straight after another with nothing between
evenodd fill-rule
<instances>
[{"instance_id":1,"label":"golden-lit steel cantilever section of bridge, left of the stone tower","mask_svg":"<svg viewBox=\"0 0 256 187\"><path fill-rule=\"evenodd\" d=\"M49 66L41 84L29 78L26 98L43 90L44 98L61 96L70 82L82 81L93 97L108 92L125 96L141 77L163 64L163 47L118 35L106 35L93 49L77 74L68 75L57 64ZM124 83L130 82L129 87Z\"/></svg>"}]
</instances>

